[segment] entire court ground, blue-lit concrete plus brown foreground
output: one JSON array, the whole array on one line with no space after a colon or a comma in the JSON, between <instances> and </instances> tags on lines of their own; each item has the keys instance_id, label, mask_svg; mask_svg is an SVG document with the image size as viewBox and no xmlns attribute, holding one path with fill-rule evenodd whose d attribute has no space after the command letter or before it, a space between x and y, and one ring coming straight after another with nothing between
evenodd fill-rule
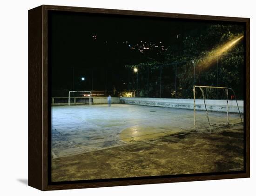
<instances>
[{"instance_id":1,"label":"entire court ground, blue-lit concrete plus brown foreground","mask_svg":"<svg viewBox=\"0 0 256 196\"><path fill-rule=\"evenodd\" d=\"M196 125L204 131L194 132L193 110L52 107L52 180L242 170L243 126L239 114L230 114L231 127L226 117L209 113L213 127L219 125L209 134L203 111L197 111Z\"/></svg>"}]
</instances>

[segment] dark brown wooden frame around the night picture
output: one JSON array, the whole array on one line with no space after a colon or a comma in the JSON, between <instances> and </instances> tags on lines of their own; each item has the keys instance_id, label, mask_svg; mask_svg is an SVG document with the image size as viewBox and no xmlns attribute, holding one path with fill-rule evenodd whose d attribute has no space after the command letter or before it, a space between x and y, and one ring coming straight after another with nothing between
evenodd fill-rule
<instances>
[{"instance_id":1,"label":"dark brown wooden frame around the night picture","mask_svg":"<svg viewBox=\"0 0 256 196\"><path fill-rule=\"evenodd\" d=\"M48 105L48 11L119 14L173 19L239 22L245 25L245 114L244 115L244 161L245 171L216 175L176 175L175 177L134 177L121 180L95 180L90 182L49 182L48 127L51 113ZM250 175L249 157L249 19L221 16L204 16L176 13L155 13L128 10L111 10L69 6L42 5L28 11L28 185L39 190L62 190L90 187L108 187L150 183L172 183L200 180L244 178Z\"/></svg>"}]
</instances>

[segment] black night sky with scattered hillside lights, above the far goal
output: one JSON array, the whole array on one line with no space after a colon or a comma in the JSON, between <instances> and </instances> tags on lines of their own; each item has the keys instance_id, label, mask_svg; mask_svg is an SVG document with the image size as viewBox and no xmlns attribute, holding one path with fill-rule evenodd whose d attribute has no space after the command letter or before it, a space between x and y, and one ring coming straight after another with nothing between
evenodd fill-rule
<instances>
[{"instance_id":1,"label":"black night sky with scattered hillside lights, above the far goal","mask_svg":"<svg viewBox=\"0 0 256 196\"><path fill-rule=\"evenodd\" d=\"M209 25L179 19L50 12L52 92L111 91L113 86L121 90L128 82L125 65L162 61L161 54L169 46L182 51L184 37L197 36Z\"/></svg>"}]
</instances>

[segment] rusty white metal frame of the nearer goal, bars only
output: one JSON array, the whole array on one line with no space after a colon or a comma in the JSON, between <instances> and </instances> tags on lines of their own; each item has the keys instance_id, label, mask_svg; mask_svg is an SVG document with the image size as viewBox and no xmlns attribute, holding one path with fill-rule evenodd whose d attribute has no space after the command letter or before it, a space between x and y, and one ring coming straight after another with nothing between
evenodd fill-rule
<instances>
[{"instance_id":1,"label":"rusty white metal frame of the nearer goal, bars only","mask_svg":"<svg viewBox=\"0 0 256 196\"><path fill-rule=\"evenodd\" d=\"M193 88L193 93L194 93L194 128L195 128L195 88L199 88L201 90L201 92L202 92L202 98L203 98L204 107L205 107L205 111L206 111L206 115L207 115L207 119L208 119L208 123L209 123L210 133L212 132L212 130L211 130L211 124L210 124L210 120L209 120L208 110L207 110L206 103L205 103L205 95L204 95L203 89L223 89L223 90L226 90L227 121L228 121L228 124L229 124L229 90L231 90L233 92L233 94L235 96L235 99L236 99L235 91L233 89L231 89L231 88L228 88L228 87L194 86L194 88ZM238 106L237 100L236 100L236 105L237 105L237 108L238 108L238 112L240 114L241 122L243 123L242 116L241 116L241 113L240 113L240 110L239 110L239 106Z\"/></svg>"}]
</instances>

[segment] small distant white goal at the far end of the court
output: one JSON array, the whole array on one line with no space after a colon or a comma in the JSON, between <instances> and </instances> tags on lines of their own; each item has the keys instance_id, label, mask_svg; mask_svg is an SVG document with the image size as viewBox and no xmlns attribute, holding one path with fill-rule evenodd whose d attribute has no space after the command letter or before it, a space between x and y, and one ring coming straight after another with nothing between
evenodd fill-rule
<instances>
[{"instance_id":1,"label":"small distant white goal at the far end of the court","mask_svg":"<svg viewBox=\"0 0 256 196\"><path fill-rule=\"evenodd\" d=\"M68 92L68 106L75 104L92 105L91 91L69 91Z\"/></svg>"}]
</instances>

